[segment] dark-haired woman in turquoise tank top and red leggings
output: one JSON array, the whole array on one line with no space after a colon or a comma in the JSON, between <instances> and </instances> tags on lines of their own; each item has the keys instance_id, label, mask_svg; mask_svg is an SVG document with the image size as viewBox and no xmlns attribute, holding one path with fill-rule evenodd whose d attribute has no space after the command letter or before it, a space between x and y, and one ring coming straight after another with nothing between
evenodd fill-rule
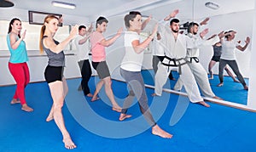
<instances>
[{"instance_id":1,"label":"dark-haired woman in turquoise tank top and red leggings","mask_svg":"<svg viewBox=\"0 0 256 152\"><path fill-rule=\"evenodd\" d=\"M21 104L21 110L31 112L33 109L26 104L25 88L29 83L29 69L26 64L28 61L26 53L26 31L20 35L22 25L20 19L14 18L9 22L9 31L7 35L7 45L10 52L9 71L15 78L17 88L10 104Z\"/></svg>"}]
</instances>

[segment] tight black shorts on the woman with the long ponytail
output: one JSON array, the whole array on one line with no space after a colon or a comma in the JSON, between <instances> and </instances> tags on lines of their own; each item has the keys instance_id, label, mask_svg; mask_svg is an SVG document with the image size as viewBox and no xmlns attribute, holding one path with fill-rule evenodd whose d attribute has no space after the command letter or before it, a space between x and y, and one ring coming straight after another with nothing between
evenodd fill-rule
<instances>
[{"instance_id":1,"label":"tight black shorts on the woman with the long ponytail","mask_svg":"<svg viewBox=\"0 0 256 152\"><path fill-rule=\"evenodd\" d=\"M44 78L47 83L61 81L63 77L63 66L50 66L47 65L46 69L44 70Z\"/></svg>"}]
</instances>

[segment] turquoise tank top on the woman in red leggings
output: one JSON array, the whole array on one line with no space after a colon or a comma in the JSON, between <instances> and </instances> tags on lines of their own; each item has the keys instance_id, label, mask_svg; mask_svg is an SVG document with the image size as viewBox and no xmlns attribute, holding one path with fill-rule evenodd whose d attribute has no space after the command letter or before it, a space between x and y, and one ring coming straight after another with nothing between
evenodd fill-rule
<instances>
[{"instance_id":1,"label":"turquoise tank top on the woman in red leggings","mask_svg":"<svg viewBox=\"0 0 256 152\"><path fill-rule=\"evenodd\" d=\"M18 48L13 49L10 44L9 34L6 37L7 45L10 52L9 62L13 64L24 63L28 61L27 53L26 53L26 43L22 40ZM17 37L16 40L20 38Z\"/></svg>"}]
</instances>

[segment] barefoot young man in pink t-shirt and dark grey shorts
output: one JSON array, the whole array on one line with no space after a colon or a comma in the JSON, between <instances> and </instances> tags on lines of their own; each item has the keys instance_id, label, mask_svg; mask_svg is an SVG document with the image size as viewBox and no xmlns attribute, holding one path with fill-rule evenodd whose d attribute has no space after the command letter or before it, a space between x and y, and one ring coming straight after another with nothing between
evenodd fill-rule
<instances>
[{"instance_id":1,"label":"barefoot young man in pink t-shirt and dark grey shorts","mask_svg":"<svg viewBox=\"0 0 256 152\"><path fill-rule=\"evenodd\" d=\"M120 112L121 107L119 106L119 104L116 103L113 96L110 72L108 70L108 65L106 62L105 48L111 46L113 42L115 42L121 36L123 29L120 28L119 31L117 31L117 33L113 37L106 40L102 33L107 30L107 26L108 20L101 16L96 20L96 31L90 34L92 66L96 70L98 76L101 79L100 82L96 84L96 91L93 94L91 101L96 101L96 99L98 99L97 94L102 89L102 86L105 85L105 92L108 96L108 99L111 101L113 105L112 110Z\"/></svg>"}]
</instances>

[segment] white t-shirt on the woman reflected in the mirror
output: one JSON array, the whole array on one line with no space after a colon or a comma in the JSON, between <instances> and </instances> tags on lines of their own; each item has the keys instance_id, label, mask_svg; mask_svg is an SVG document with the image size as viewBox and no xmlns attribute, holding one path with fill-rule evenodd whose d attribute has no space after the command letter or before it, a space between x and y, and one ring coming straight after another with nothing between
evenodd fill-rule
<instances>
[{"instance_id":1,"label":"white t-shirt on the woman reflected in the mirror","mask_svg":"<svg viewBox=\"0 0 256 152\"><path fill-rule=\"evenodd\" d=\"M227 59L227 60L236 60L236 46L238 43L235 40L226 41L223 40L222 44L222 53L220 59Z\"/></svg>"}]
</instances>

